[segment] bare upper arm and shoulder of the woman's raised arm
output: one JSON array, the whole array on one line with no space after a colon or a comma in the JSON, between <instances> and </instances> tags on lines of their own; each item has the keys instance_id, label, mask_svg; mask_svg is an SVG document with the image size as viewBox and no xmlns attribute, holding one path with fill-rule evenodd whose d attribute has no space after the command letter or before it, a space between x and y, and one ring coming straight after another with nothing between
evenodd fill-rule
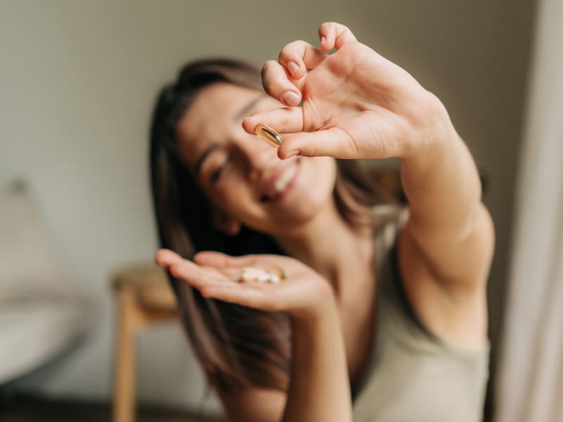
<instances>
[{"instance_id":1,"label":"bare upper arm and shoulder of the woman's raised arm","mask_svg":"<svg viewBox=\"0 0 563 422\"><path fill-rule=\"evenodd\" d=\"M479 206L465 236L433 237L410 222L398 245L401 278L417 316L434 333L467 348L486 344L486 280L494 249L494 229Z\"/></svg>"}]
</instances>

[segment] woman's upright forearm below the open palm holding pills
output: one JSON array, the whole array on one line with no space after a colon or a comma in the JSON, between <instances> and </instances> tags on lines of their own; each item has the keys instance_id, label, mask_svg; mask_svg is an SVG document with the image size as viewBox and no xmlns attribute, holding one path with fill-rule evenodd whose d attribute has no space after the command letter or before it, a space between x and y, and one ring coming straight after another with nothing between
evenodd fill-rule
<instances>
[{"instance_id":1,"label":"woman's upright forearm below the open palm holding pills","mask_svg":"<svg viewBox=\"0 0 563 422\"><path fill-rule=\"evenodd\" d=\"M346 351L334 300L315 319L292 318L291 381L283 421L351 421Z\"/></svg>"}]
</instances>

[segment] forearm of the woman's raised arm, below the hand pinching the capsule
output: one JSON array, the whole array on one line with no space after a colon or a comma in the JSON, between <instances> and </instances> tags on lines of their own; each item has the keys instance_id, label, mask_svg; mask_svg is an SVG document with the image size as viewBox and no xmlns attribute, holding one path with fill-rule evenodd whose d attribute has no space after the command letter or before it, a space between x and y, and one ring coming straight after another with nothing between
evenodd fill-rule
<instances>
[{"instance_id":1,"label":"forearm of the woman's raised arm, below the hand pinching the capsule","mask_svg":"<svg viewBox=\"0 0 563 422\"><path fill-rule=\"evenodd\" d=\"M426 151L401 158L410 222L414 233L437 242L444 238L462 241L472 229L481 202L479 172L449 120L438 136Z\"/></svg>"}]
</instances>

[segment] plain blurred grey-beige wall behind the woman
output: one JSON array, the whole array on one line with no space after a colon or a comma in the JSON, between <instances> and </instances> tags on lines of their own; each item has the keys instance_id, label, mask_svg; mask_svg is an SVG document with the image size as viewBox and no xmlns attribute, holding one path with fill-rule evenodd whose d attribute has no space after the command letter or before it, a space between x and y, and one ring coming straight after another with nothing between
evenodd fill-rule
<instances>
[{"instance_id":1,"label":"plain blurred grey-beige wall behind the woman","mask_svg":"<svg viewBox=\"0 0 563 422\"><path fill-rule=\"evenodd\" d=\"M87 340L20 387L110 396L110 274L151 260L157 247L147 132L158 87L195 56L259 64L293 39L315 42L324 20L346 23L441 96L488 173L495 312L532 8L533 0L0 1L0 184L30 181L58 257L99 306ZM141 335L139 345L141 398L199 403L201 373L176 326Z\"/></svg>"}]
</instances>

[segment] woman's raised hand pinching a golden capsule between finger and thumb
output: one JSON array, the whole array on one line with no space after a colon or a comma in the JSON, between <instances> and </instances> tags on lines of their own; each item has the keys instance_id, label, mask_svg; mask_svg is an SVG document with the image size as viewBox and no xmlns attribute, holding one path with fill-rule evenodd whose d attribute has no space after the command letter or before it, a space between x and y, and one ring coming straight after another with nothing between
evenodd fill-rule
<instances>
[{"instance_id":1,"label":"woman's raised hand pinching a golden capsule between finger and thumb","mask_svg":"<svg viewBox=\"0 0 563 422\"><path fill-rule=\"evenodd\" d=\"M249 133L262 123L284 134L280 158L409 158L454 133L436 96L347 27L324 23L319 37L320 49L293 41L262 69L267 94L288 107L243 121Z\"/></svg>"}]
</instances>

